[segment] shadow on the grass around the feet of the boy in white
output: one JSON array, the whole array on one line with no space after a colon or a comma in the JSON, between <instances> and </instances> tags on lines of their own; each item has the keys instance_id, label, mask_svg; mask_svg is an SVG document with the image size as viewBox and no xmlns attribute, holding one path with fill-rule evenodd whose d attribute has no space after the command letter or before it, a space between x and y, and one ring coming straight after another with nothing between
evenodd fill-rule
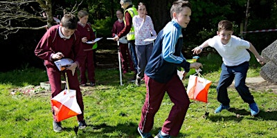
<instances>
[{"instance_id":1,"label":"shadow on the grass around the feet of the boy in white","mask_svg":"<svg viewBox=\"0 0 277 138\"><path fill-rule=\"evenodd\" d=\"M223 117L223 116L220 116L220 114L218 114L218 115L209 115L207 118L210 119L211 121L229 121L229 120L241 121L242 119L244 119L245 116L251 116L250 111L247 111L245 109L230 108L228 111L233 112L234 115ZM253 119L277 121L277 110L273 110L273 111L260 110L259 114L254 116Z\"/></svg>"}]
</instances>

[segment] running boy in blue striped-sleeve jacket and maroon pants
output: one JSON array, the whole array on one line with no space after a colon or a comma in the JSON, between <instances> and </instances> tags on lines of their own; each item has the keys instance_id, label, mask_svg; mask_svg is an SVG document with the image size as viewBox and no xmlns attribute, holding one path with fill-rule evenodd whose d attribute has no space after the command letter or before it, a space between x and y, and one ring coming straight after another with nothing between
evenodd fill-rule
<instances>
[{"instance_id":1,"label":"running boy in blue striped-sleeve jacket and maroon pants","mask_svg":"<svg viewBox=\"0 0 277 138\"><path fill-rule=\"evenodd\" d=\"M170 10L172 21L159 32L154 43L152 55L145 67L147 93L138 127L141 137L152 137L150 130L154 124L154 115L158 112L166 92L174 106L156 137L177 137L183 124L190 100L184 84L177 75L177 67L182 67L186 71L184 78L190 68L202 67L202 63L188 63L181 53L181 29L186 28L190 21L190 8L188 1L175 1Z\"/></svg>"}]
</instances>

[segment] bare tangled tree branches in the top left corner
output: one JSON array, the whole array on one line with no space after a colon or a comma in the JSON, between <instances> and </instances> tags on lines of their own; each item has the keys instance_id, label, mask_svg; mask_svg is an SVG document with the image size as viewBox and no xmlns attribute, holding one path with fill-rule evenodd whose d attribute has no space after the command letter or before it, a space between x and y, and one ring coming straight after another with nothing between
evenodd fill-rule
<instances>
[{"instance_id":1,"label":"bare tangled tree branches in the top left corner","mask_svg":"<svg viewBox=\"0 0 277 138\"><path fill-rule=\"evenodd\" d=\"M82 1L79 4L76 1L75 6L69 13L77 12L81 3ZM51 0L0 1L0 35L3 35L4 39L8 39L8 34L16 33L19 29L39 30L50 28L57 23L57 18L53 18L52 8ZM60 8L62 9L62 7ZM42 25L38 26L37 24Z\"/></svg>"}]
</instances>

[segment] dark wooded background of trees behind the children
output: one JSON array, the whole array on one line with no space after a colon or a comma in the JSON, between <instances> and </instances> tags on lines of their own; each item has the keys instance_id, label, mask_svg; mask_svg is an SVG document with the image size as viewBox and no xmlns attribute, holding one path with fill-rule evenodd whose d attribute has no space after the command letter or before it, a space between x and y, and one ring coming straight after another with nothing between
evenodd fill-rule
<instances>
[{"instance_id":1,"label":"dark wooded background of trees behind the children","mask_svg":"<svg viewBox=\"0 0 277 138\"><path fill-rule=\"evenodd\" d=\"M111 28L116 21L116 10L120 0L8 0L0 1L0 46L2 59L0 71L20 68L44 68L41 59L34 55L35 46L46 27L55 25L64 11L77 14L79 10L89 12L89 22L97 30L97 37L111 37ZM172 0L134 0L146 4L148 15L152 18L157 32L170 21ZM192 0L192 16L184 30L184 49L192 49L213 37L217 23L228 19L235 25L234 34L253 43L258 52L277 39L277 1L276 0ZM263 32L249 32L265 30ZM101 41L98 48L107 48L112 41ZM102 46L101 46L102 45ZM105 46L107 45L107 46ZM184 53L186 58L192 53Z\"/></svg>"}]
</instances>

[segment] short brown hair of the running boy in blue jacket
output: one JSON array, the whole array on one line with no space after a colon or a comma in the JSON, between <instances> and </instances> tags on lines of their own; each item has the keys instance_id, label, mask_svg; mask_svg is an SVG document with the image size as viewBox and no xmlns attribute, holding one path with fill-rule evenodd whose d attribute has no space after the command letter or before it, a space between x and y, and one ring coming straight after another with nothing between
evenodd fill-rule
<instances>
[{"instance_id":1,"label":"short brown hair of the running boy in blue jacket","mask_svg":"<svg viewBox=\"0 0 277 138\"><path fill-rule=\"evenodd\" d=\"M172 4L172 7L170 9L170 17L171 19L173 19L173 12L176 12L177 14L179 14L184 7L188 7L191 9L191 4L188 1L183 1L183 0L178 0L178 1L174 1Z\"/></svg>"}]
</instances>

